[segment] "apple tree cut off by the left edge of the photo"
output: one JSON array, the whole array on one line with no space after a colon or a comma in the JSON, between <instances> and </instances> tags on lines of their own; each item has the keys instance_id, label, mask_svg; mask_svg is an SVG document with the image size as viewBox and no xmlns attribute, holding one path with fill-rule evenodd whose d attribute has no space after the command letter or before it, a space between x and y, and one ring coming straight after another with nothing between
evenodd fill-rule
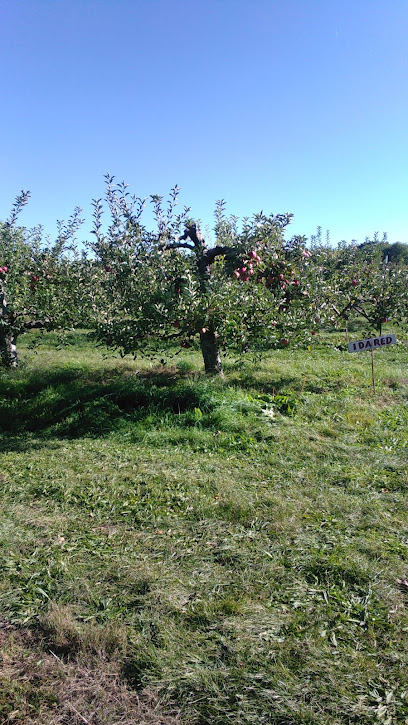
<instances>
[{"instance_id":1,"label":"apple tree cut off by the left edge of the photo","mask_svg":"<svg viewBox=\"0 0 408 725\"><path fill-rule=\"evenodd\" d=\"M69 254L82 223L81 210L75 209L68 222L58 222L58 237L49 244L41 227L16 226L29 197L22 191L9 219L0 222L0 357L10 367L18 364L19 335L32 329L69 329L81 310L81 265Z\"/></svg>"}]
</instances>

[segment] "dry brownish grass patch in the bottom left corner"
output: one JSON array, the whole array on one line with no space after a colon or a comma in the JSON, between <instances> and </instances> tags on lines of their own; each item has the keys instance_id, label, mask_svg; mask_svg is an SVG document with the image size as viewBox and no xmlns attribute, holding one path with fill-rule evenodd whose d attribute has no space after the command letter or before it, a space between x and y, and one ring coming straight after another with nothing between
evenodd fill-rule
<instances>
[{"instance_id":1,"label":"dry brownish grass patch in the bottom left corner","mask_svg":"<svg viewBox=\"0 0 408 725\"><path fill-rule=\"evenodd\" d=\"M65 644L72 620L53 614ZM56 619L59 619L58 623ZM65 627L71 631L63 632ZM177 725L154 688L139 693L123 679L123 661L109 656L102 639L75 654L56 655L38 633L4 622L0 629L0 722L14 725ZM76 636L78 632L76 631ZM87 628L89 635L89 628ZM106 643L105 643L106 644ZM93 651L91 651L93 650Z\"/></svg>"}]
</instances>

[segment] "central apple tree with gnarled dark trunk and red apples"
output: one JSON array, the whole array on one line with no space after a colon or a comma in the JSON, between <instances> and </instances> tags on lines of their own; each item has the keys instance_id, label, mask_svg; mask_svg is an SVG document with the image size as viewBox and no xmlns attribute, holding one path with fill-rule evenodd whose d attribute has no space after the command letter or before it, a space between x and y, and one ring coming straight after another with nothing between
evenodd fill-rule
<instances>
[{"instance_id":1,"label":"central apple tree with gnarled dark trunk and red apples","mask_svg":"<svg viewBox=\"0 0 408 725\"><path fill-rule=\"evenodd\" d=\"M110 224L104 232L101 199L94 204L93 288L97 335L123 354L182 348L199 338L207 373L222 373L221 351L261 351L310 339L316 309L304 238L286 242L290 214L244 219L216 209L216 241L209 246L189 209L175 214L178 188L166 207L152 196L156 230L141 223L145 200L106 177Z\"/></svg>"}]
</instances>

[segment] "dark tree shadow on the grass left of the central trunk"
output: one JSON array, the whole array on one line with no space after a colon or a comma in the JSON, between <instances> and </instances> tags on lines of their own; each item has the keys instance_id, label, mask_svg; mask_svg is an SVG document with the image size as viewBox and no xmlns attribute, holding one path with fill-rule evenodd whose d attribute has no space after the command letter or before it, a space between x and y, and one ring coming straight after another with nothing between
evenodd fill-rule
<instances>
[{"instance_id":1,"label":"dark tree shadow on the grass left of the central trunk","mask_svg":"<svg viewBox=\"0 0 408 725\"><path fill-rule=\"evenodd\" d=\"M131 376L78 369L35 371L0 381L0 433L5 439L101 436L125 417L205 406L203 391L174 371Z\"/></svg>"}]
</instances>

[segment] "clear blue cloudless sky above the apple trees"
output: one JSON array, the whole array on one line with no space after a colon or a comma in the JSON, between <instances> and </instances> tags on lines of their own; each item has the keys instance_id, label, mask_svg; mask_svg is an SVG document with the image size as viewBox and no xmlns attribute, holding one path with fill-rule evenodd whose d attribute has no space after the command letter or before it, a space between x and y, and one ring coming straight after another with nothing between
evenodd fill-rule
<instances>
[{"instance_id":1,"label":"clear blue cloudless sky above the apple trees","mask_svg":"<svg viewBox=\"0 0 408 725\"><path fill-rule=\"evenodd\" d=\"M109 171L408 242L407 0L0 0L0 67L0 218L29 189L53 234Z\"/></svg>"}]
</instances>

